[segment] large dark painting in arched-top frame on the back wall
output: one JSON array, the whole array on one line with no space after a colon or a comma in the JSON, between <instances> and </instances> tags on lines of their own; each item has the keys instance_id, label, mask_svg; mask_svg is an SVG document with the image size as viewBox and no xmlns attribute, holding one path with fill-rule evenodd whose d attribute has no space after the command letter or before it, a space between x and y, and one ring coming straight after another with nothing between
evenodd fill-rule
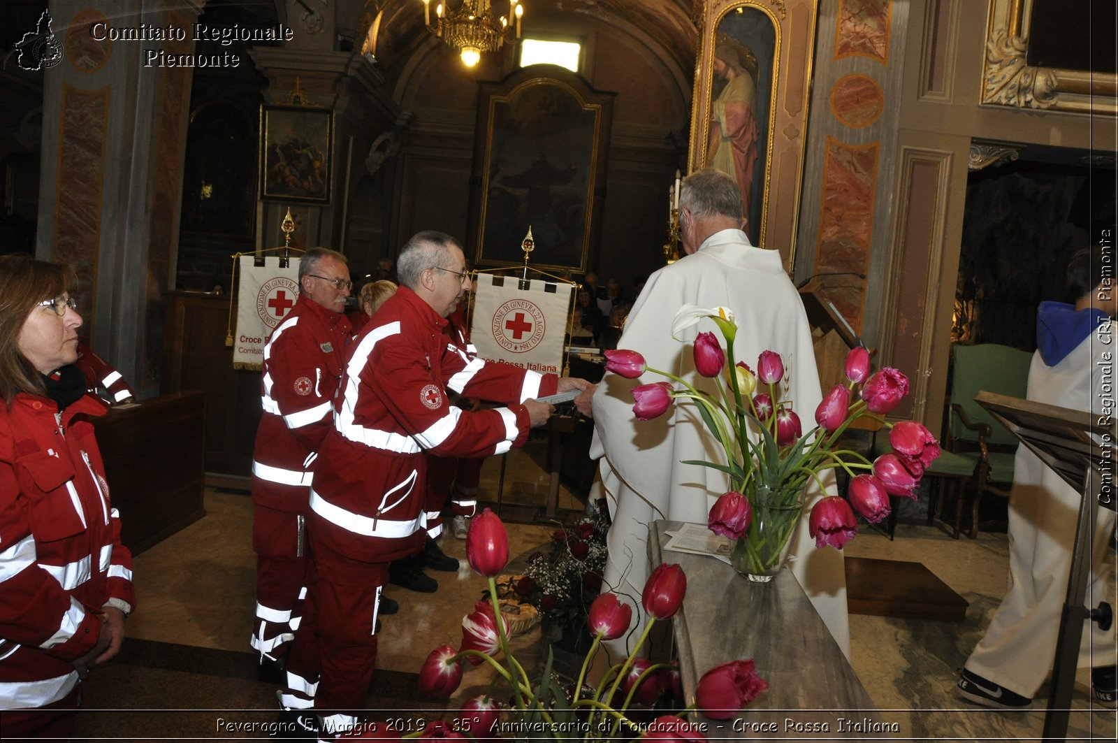
<instances>
[{"instance_id":1,"label":"large dark painting in arched-top frame on the back wall","mask_svg":"<svg viewBox=\"0 0 1118 743\"><path fill-rule=\"evenodd\" d=\"M613 94L551 65L482 84L470 231L479 265L582 273L600 234Z\"/></svg>"}]
</instances>

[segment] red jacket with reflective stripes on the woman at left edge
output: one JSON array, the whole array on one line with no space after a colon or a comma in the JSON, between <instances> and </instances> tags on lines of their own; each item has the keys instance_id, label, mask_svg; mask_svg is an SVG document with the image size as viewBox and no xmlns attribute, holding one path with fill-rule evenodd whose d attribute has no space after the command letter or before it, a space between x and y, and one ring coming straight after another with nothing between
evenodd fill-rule
<instances>
[{"instance_id":1,"label":"red jacket with reflective stripes on the woman at left edge","mask_svg":"<svg viewBox=\"0 0 1118 743\"><path fill-rule=\"evenodd\" d=\"M110 599L135 606L132 555L110 505L92 395L0 402L0 709L40 707L77 684Z\"/></svg>"}]
</instances>

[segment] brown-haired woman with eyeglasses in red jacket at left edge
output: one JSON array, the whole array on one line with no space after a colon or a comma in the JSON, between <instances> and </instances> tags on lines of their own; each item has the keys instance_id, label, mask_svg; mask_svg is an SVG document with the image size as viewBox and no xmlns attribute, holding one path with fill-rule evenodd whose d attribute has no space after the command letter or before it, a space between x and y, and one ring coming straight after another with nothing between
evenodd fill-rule
<instances>
[{"instance_id":1,"label":"brown-haired woman with eyeglasses in red jacket at left edge","mask_svg":"<svg viewBox=\"0 0 1118 743\"><path fill-rule=\"evenodd\" d=\"M74 366L74 272L0 257L0 730L67 739L89 671L121 649L132 555Z\"/></svg>"}]
</instances>

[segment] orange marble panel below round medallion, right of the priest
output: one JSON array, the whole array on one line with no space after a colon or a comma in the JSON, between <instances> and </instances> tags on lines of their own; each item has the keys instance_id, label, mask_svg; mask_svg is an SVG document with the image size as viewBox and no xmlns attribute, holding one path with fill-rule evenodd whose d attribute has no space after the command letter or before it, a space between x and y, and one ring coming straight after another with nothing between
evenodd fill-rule
<instances>
[{"instance_id":1,"label":"orange marble panel below round medallion, right of the priest","mask_svg":"<svg viewBox=\"0 0 1118 743\"><path fill-rule=\"evenodd\" d=\"M814 273L865 274L873 235L878 143L850 145L828 137L823 169L823 203ZM862 323L864 280L836 276L827 299L856 330Z\"/></svg>"}]
</instances>

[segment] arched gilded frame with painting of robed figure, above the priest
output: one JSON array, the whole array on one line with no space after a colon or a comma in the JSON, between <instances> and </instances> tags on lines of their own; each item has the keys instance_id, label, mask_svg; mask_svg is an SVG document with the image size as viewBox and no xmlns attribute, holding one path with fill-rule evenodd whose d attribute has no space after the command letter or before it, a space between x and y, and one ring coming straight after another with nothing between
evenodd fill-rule
<instances>
[{"instance_id":1,"label":"arched gilded frame with painting of robed figure, above the priest","mask_svg":"<svg viewBox=\"0 0 1118 743\"><path fill-rule=\"evenodd\" d=\"M815 19L815 3L804 0L707 0L700 26L688 170L713 167L735 176L750 242L779 250L788 267ZM730 150L737 154L728 157Z\"/></svg>"}]
</instances>

